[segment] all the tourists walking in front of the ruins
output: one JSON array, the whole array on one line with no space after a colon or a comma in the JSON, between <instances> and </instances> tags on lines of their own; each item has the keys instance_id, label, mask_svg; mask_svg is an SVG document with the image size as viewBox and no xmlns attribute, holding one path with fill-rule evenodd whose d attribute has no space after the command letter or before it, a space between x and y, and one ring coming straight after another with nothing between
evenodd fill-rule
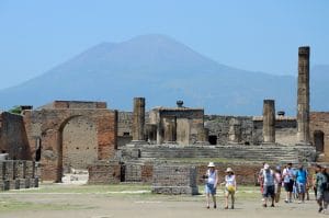
<instances>
[{"instance_id":1,"label":"all the tourists walking in front of the ruins","mask_svg":"<svg viewBox=\"0 0 329 218\"><path fill-rule=\"evenodd\" d=\"M225 209L228 209L228 202L230 196L230 208L235 208L235 193L237 191L236 175L231 168L227 168L226 175L223 181L219 181L218 171L215 169L214 162L208 163L208 169L203 176L205 179L205 194L206 207L211 208L211 198L213 199L214 208L216 204L216 188L217 185L225 185ZM326 211L329 204L329 174L326 168L319 164L314 165L315 174L309 180L308 172L304 169L303 164L294 169L292 163L287 163L282 170L276 167L272 170L270 164L263 163L262 169L259 171L259 183L262 194L262 206L274 207L280 202L281 187L284 187L285 203L290 204L293 198L303 204L309 200L309 190L313 187L317 204L319 205L318 211Z\"/></svg>"}]
</instances>

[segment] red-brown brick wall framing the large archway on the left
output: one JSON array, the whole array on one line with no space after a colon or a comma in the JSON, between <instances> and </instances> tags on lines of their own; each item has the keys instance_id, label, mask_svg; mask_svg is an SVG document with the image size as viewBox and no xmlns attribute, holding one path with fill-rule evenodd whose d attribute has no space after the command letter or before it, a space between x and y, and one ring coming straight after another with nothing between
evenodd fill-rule
<instances>
[{"instance_id":1,"label":"red-brown brick wall framing the large archway on the left","mask_svg":"<svg viewBox=\"0 0 329 218\"><path fill-rule=\"evenodd\" d=\"M26 112L25 124L31 148L35 148L35 138L41 138L42 176L47 181L60 181L63 173L63 138L66 125L75 117L88 117L97 129L97 158L106 160L115 154L117 145L117 113L109 110L42 110ZM69 125L70 126L70 125ZM68 129L78 130L71 126ZM93 131L94 133L94 131ZM92 134L91 133L86 133ZM94 139L93 139L94 140ZM94 146L94 141L89 147ZM87 149L87 147L84 147ZM35 150L35 149L34 149ZM34 151L32 150L32 154ZM72 154L72 153L71 153ZM77 152L77 159L86 153ZM75 159L76 159L75 158Z\"/></svg>"}]
</instances>

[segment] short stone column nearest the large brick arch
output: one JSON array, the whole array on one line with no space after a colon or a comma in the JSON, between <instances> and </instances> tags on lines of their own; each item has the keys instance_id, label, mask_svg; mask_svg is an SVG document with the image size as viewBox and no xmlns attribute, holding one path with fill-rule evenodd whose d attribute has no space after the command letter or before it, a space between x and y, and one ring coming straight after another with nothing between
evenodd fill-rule
<instances>
[{"instance_id":1,"label":"short stone column nearest the large brick arch","mask_svg":"<svg viewBox=\"0 0 329 218\"><path fill-rule=\"evenodd\" d=\"M144 141L145 99L134 97L133 141Z\"/></svg>"}]
</instances>

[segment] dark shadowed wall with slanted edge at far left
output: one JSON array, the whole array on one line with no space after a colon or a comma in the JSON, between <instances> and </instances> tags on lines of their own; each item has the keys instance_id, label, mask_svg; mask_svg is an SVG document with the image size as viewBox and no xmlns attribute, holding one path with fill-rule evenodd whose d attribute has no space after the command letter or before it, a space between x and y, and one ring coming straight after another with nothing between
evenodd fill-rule
<instances>
[{"instance_id":1,"label":"dark shadowed wall with slanted edge at far left","mask_svg":"<svg viewBox=\"0 0 329 218\"><path fill-rule=\"evenodd\" d=\"M0 114L0 149L10 159L31 160L30 147L21 115L3 112Z\"/></svg>"}]
</instances>

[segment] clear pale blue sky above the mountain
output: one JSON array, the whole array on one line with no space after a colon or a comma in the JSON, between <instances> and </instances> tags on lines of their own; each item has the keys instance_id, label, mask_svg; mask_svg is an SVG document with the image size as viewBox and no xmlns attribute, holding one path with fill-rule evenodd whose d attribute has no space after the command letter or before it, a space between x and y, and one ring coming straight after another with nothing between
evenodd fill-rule
<instances>
[{"instance_id":1,"label":"clear pale blue sky above the mountain","mask_svg":"<svg viewBox=\"0 0 329 218\"><path fill-rule=\"evenodd\" d=\"M166 34L219 64L294 74L329 64L328 0L0 0L0 89L101 42Z\"/></svg>"}]
</instances>

